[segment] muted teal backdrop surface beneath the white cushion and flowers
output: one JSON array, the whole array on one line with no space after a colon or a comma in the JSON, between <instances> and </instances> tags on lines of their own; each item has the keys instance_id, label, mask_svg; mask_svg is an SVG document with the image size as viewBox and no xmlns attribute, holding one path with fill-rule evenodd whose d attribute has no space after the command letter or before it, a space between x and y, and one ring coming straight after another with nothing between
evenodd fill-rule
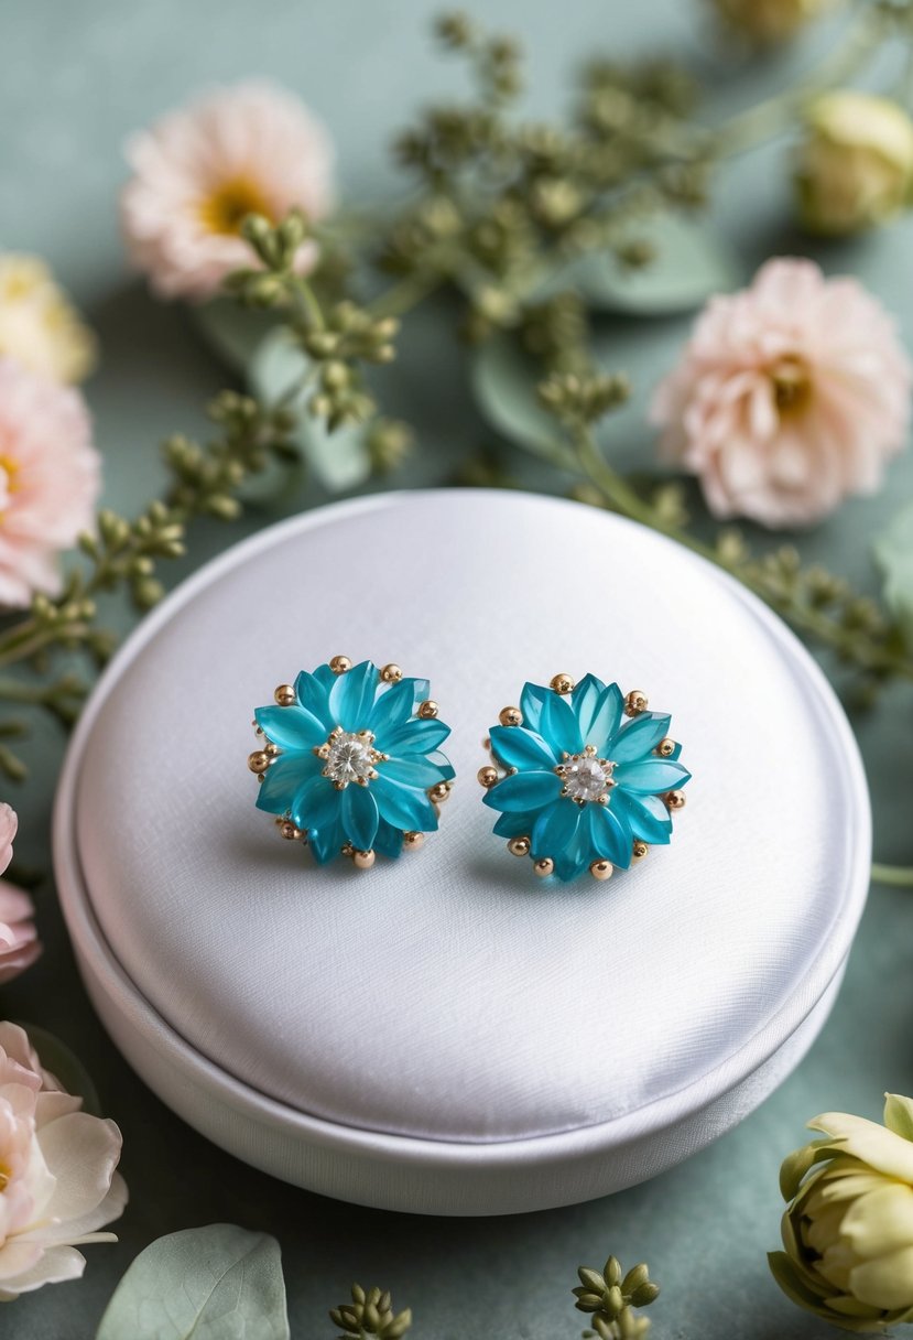
<instances>
[{"instance_id":1,"label":"muted teal backdrop surface beneath the white cushion and flowers","mask_svg":"<svg viewBox=\"0 0 913 1340\"><path fill-rule=\"evenodd\" d=\"M46 256L98 331L102 364L87 395L114 507L135 511L159 488L158 441L178 429L205 431L202 406L226 383L187 314L154 303L127 273L116 221L124 137L201 86L269 75L297 90L327 122L344 198L392 197L400 178L390 162L391 133L416 103L462 86L452 63L431 55L434 12L428 0L0 0L0 245ZM708 114L722 115L794 80L841 24L838 17L787 55L748 63L715 46L697 0L489 0L485 16L523 35L531 60L529 105L540 117L566 106L581 56L604 50L624 58L656 48L697 67L714 90ZM885 68L890 75L892 63ZM897 314L909 347L913 226L902 222L854 244L810 248L790 224L786 155L784 145L772 145L727 168L714 226L735 248L746 276L766 255L797 251L818 256L831 272L857 273ZM452 460L491 438L469 399L448 324L440 308L419 314L406 356L386 381L386 403L418 426L426 477L444 474ZM610 433L613 458L625 466L651 461L644 401L688 324L631 318L600 324L606 364L627 368L637 387ZM519 457L510 465L533 486L562 486ZM412 477L407 470L394 482ZM803 553L876 590L870 537L910 496L908 453L892 466L880 497L847 504L802 539ZM282 511L316 501L315 492L286 497ZM261 508L233 528L198 527L173 579L278 515L278 508ZM116 606L111 618L127 623ZM711 704L712 686L708 663ZM205 694L205 685L191 689ZM881 860L913 863L912 702L909 686L893 689L874 714L854 717ZM762 728L734 722L747 750L751 732ZM58 730L37 722L32 779L21 799L5 789L20 811L17 858L44 867L63 744ZM750 791L734 803L751 804ZM758 835L771 836L763 813ZM885 1089L913 1092L913 894L873 890L825 1033L798 1072L738 1130L683 1167L610 1199L482 1221L360 1210L284 1186L221 1154L167 1112L120 1060L78 981L47 883L37 903L47 951L5 989L3 1010L55 1032L84 1060L104 1112L123 1130L131 1201L116 1226L119 1244L87 1249L83 1281L0 1308L0 1337L94 1335L118 1278L147 1242L214 1221L278 1237L296 1337L332 1335L325 1309L345 1297L353 1277L392 1288L400 1306L408 1302L416 1336L574 1336L582 1323L570 1306L574 1268L601 1265L609 1252L625 1264L649 1261L664 1289L651 1309L657 1337L814 1340L829 1333L788 1304L767 1274L764 1252L778 1245L776 1171L814 1114L842 1108L874 1118Z\"/></svg>"}]
</instances>

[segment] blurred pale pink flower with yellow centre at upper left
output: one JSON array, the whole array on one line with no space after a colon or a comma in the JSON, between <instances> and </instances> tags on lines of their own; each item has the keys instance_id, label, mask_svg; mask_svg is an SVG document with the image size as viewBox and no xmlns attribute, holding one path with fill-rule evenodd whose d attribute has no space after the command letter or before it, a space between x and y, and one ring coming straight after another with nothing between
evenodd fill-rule
<instances>
[{"instance_id":1,"label":"blurred pale pink flower with yellow centre at upper left","mask_svg":"<svg viewBox=\"0 0 913 1340\"><path fill-rule=\"evenodd\" d=\"M133 261L162 297L210 297L252 264L238 236L246 214L278 222L290 209L321 218L332 202L332 149L292 94L265 83L218 88L127 145L135 177L122 196ZM301 273L317 259L297 256Z\"/></svg>"}]
</instances>

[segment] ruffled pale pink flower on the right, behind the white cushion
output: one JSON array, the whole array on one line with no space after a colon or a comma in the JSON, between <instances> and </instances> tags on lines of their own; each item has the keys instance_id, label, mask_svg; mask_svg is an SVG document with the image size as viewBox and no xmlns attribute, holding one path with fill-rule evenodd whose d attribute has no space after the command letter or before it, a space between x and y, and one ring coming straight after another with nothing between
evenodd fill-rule
<instances>
[{"instance_id":1,"label":"ruffled pale pink flower on the right, behind the white cushion","mask_svg":"<svg viewBox=\"0 0 913 1340\"><path fill-rule=\"evenodd\" d=\"M711 297L651 421L715 516L807 525L878 488L906 440L912 381L893 320L857 280L771 260L751 288Z\"/></svg>"}]
</instances>

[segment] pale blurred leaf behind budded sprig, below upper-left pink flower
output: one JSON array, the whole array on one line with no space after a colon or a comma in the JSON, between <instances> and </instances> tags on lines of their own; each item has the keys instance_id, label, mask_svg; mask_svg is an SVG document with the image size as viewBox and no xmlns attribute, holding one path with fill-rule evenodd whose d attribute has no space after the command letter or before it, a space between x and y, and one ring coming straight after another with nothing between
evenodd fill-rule
<instances>
[{"instance_id":1,"label":"pale blurred leaf behind budded sprig, below upper-left pink flower","mask_svg":"<svg viewBox=\"0 0 913 1340\"><path fill-rule=\"evenodd\" d=\"M257 346L248 364L250 391L266 405L274 405L295 390L289 402L299 415L299 425L289 434L296 442L315 474L332 492L353 489L363 484L371 473L371 461L364 444L364 427L360 423L344 425L335 433L328 433L323 419L308 414L308 390L303 383L308 375L309 362L295 343L285 327L270 331Z\"/></svg>"}]
</instances>

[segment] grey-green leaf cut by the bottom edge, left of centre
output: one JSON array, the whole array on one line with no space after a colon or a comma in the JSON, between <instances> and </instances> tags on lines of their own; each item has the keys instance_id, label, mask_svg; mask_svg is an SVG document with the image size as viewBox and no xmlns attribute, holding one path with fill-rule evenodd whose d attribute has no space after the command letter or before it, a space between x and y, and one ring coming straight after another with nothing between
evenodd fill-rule
<instances>
[{"instance_id":1,"label":"grey-green leaf cut by the bottom edge, left of centre","mask_svg":"<svg viewBox=\"0 0 913 1340\"><path fill-rule=\"evenodd\" d=\"M289 1340L278 1242L233 1223L169 1233L141 1252L96 1340Z\"/></svg>"}]
</instances>

